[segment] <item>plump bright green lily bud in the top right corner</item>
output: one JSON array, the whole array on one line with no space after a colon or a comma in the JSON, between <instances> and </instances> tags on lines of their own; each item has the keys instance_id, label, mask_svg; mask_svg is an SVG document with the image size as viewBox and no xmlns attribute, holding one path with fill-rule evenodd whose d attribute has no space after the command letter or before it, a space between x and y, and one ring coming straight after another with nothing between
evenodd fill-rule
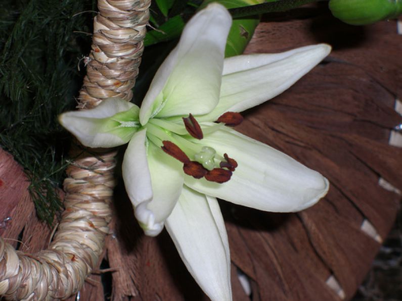
<instances>
[{"instance_id":1,"label":"plump bright green lily bud in the top right corner","mask_svg":"<svg viewBox=\"0 0 402 301\"><path fill-rule=\"evenodd\" d=\"M351 25L372 24L402 13L402 0L330 0L334 17Z\"/></svg>"}]
</instances>

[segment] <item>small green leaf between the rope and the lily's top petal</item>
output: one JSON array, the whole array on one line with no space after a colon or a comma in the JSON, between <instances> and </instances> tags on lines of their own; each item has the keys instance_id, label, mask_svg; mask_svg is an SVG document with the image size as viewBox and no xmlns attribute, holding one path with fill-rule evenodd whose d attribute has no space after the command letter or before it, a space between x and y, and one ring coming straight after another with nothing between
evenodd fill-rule
<instances>
[{"instance_id":1,"label":"small green leaf between the rope and the lily's top petal","mask_svg":"<svg viewBox=\"0 0 402 301\"><path fill-rule=\"evenodd\" d=\"M182 33L184 25L185 23L182 17L175 16L159 26L158 30L151 30L147 32L147 35L144 39L144 45L149 46L177 38Z\"/></svg>"}]
</instances>

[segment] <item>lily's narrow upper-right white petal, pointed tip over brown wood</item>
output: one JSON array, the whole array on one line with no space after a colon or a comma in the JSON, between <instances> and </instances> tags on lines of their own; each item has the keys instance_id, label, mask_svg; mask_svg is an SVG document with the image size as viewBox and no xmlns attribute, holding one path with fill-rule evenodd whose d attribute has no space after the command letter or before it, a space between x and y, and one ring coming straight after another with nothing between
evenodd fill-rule
<instances>
[{"instance_id":1,"label":"lily's narrow upper-right white petal, pointed tip over brown wood","mask_svg":"<svg viewBox=\"0 0 402 301\"><path fill-rule=\"evenodd\" d=\"M241 112L282 93L320 63L331 46L305 46L280 54L256 54L225 60L219 104L199 121L213 121L225 112Z\"/></svg>"}]
</instances>

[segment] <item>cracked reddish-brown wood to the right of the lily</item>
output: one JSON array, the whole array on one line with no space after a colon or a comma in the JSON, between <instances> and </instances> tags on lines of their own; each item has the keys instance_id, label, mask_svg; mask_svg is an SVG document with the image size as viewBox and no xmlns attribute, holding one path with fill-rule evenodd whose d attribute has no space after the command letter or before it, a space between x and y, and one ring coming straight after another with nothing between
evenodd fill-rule
<instances>
[{"instance_id":1,"label":"cracked reddish-brown wood to the right of the lily","mask_svg":"<svg viewBox=\"0 0 402 301\"><path fill-rule=\"evenodd\" d=\"M229 226L235 237L231 242L236 241L232 252L240 254L232 260L252 270L249 275L261 299L336 300L325 283L331 274L350 298L379 248L361 231L363 220L384 238L399 207L400 195L378 185L381 176L402 187L401 150L388 145L390 130L402 121L393 110L402 74L396 24L359 29L323 17L266 22L257 28L247 52L277 52L322 41L334 46L327 63L271 102L249 110L238 127L331 182L318 205L290 217L266 215L282 220L275 227L261 226L264 214L256 211ZM239 238L239 232L245 234ZM307 239L297 240L303 236Z\"/></svg>"}]
</instances>

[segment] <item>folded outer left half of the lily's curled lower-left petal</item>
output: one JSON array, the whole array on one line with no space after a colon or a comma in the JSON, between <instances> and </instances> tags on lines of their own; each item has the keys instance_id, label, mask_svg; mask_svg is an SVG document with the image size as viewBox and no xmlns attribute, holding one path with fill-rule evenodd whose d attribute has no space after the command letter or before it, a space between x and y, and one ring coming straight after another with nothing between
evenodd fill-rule
<instances>
[{"instance_id":1,"label":"folded outer left half of the lily's curled lower-left petal","mask_svg":"<svg viewBox=\"0 0 402 301\"><path fill-rule=\"evenodd\" d=\"M147 204L152 200L151 174L146 149L146 129L135 133L124 153L122 174L128 197L135 208L135 216L147 235L157 235L163 223L155 221Z\"/></svg>"}]
</instances>

